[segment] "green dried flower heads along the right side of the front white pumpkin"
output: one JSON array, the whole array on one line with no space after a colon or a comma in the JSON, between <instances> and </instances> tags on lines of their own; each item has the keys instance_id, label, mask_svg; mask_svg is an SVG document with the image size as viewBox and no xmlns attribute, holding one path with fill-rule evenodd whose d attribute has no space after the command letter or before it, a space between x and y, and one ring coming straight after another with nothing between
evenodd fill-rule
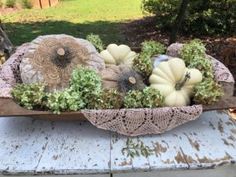
<instances>
[{"instance_id":1,"label":"green dried flower heads along the right side of the front white pumpkin","mask_svg":"<svg viewBox=\"0 0 236 177\"><path fill-rule=\"evenodd\" d=\"M203 81L194 88L194 102L213 104L223 96L221 85L214 80L213 66L207 58L206 48L200 40L192 40L185 44L181 57L190 68L197 68L203 74Z\"/></svg>"}]
</instances>

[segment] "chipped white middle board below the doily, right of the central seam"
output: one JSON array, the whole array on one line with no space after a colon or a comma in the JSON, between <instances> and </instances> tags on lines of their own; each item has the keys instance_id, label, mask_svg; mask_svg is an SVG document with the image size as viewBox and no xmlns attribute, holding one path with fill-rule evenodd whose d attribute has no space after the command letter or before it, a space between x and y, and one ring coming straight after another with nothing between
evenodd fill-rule
<instances>
[{"instance_id":1,"label":"chipped white middle board below the doily, right of the central seam","mask_svg":"<svg viewBox=\"0 0 236 177\"><path fill-rule=\"evenodd\" d=\"M147 149L150 149L150 154L131 157L127 151L122 152L127 147L127 141L137 145L140 142ZM114 134L111 141L111 171L149 171L154 169L174 169L187 168L187 163L177 163L175 155L178 149L178 140L175 135L149 135L128 138L125 136ZM173 143L174 142L174 143ZM140 151L139 151L140 153Z\"/></svg>"}]
</instances>

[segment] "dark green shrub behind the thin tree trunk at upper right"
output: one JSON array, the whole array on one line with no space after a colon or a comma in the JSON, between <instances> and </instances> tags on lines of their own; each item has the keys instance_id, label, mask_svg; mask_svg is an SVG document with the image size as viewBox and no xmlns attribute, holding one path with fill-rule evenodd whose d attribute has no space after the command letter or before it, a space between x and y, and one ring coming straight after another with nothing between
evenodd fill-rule
<instances>
[{"instance_id":1,"label":"dark green shrub behind the thin tree trunk at upper right","mask_svg":"<svg viewBox=\"0 0 236 177\"><path fill-rule=\"evenodd\" d=\"M144 12L156 15L157 26L170 29L176 19L181 0L143 0ZM190 0L182 31L196 34L235 34L235 0Z\"/></svg>"}]
</instances>

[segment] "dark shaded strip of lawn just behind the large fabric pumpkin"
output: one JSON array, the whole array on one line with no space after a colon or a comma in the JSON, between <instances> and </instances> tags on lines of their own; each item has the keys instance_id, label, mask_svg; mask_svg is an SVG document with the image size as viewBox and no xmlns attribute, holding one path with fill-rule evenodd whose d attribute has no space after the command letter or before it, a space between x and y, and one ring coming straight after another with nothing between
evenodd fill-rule
<instances>
[{"instance_id":1,"label":"dark shaded strip of lawn just behind the large fabric pumpkin","mask_svg":"<svg viewBox=\"0 0 236 177\"><path fill-rule=\"evenodd\" d=\"M86 35L94 33L99 34L105 44L125 42L120 30L122 23L119 22L96 21L76 24L68 21L45 21L4 23L4 25L10 40L16 46L47 34L68 34L85 38Z\"/></svg>"}]
</instances>

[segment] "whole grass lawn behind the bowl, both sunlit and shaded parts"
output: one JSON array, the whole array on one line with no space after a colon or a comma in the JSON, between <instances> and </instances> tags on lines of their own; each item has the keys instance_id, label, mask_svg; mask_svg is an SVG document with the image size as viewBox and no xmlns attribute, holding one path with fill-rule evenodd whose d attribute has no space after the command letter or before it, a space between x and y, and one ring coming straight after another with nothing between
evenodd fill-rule
<instances>
[{"instance_id":1,"label":"whole grass lawn behind the bowl, both sunlit and shaded parts","mask_svg":"<svg viewBox=\"0 0 236 177\"><path fill-rule=\"evenodd\" d=\"M105 43L125 42L120 26L142 17L141 0L64 0L48 9L21 10L0 17L15 45L38 35L70 34L85 37L99 34Z\"/></svg>"}]
</instances>

